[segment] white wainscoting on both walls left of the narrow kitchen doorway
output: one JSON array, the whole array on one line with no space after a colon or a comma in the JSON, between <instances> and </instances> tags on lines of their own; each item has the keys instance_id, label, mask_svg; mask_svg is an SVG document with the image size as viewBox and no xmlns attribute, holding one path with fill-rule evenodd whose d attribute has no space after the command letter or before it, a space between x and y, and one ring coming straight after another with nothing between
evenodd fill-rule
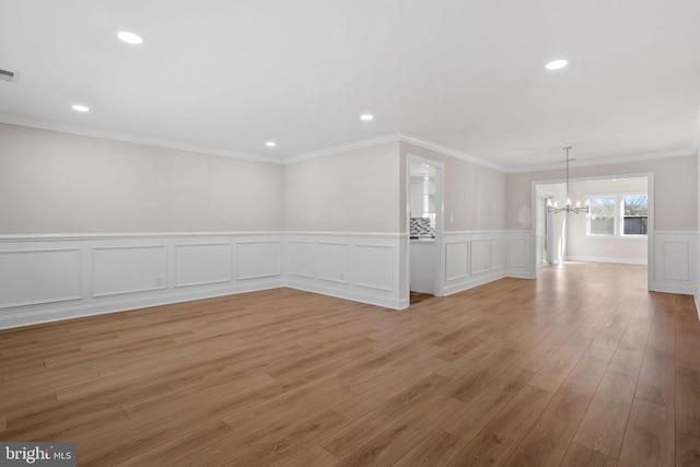
<instances>
[{"instance_id":1,"label":"white wainscoting on both walls left of the narrow kitchen doorway","mask_svg":"<svg viewBox=\"0 0 700 467\"><path fill-rule=\"evenodd\" d=\"M401 242L382 233L0 236L0 328L279 287L390 308Z\"/></svg>"}]
</instances>

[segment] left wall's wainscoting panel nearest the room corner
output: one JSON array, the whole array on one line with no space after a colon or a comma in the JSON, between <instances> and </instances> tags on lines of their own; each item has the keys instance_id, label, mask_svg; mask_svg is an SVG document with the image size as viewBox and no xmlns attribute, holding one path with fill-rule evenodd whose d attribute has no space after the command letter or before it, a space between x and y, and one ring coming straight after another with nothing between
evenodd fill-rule
<instances>
[{"instance_id":1,"label":"left wall's wainscoting panel nearest the room corner","mask_svg":"<svg viewBox=\"0 0 700 467\"><path fill-rule=\"evenodd\" d=\"M236 243L237 280L281 276L282 243L278 240Z\"/></svg>"}]
</instances>

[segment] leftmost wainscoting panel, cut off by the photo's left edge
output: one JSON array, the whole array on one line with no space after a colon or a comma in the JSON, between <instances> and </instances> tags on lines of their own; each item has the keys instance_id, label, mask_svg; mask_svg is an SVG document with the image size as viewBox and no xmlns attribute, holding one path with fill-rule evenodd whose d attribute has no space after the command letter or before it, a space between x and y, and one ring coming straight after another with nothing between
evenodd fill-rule
<instances>
[{"instance_id":1,"label":"leftmost wainscoting panel, cut off by the photo's left edge","mask_svg":"<svg viewBox=\"0 0 700 467\"><path fill-rule=\"evenodd\" d=\"M79 248L0 252L0 308L81 299Z\"/></svg>"}]
</instances>

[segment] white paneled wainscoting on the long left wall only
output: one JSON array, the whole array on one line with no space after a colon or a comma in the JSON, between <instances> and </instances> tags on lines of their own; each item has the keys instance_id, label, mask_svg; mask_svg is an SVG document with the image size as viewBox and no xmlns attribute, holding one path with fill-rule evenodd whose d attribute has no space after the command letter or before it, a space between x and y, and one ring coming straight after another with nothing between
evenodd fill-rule
<instances>
[{"instance_id":1,"label":"white paneled wainscoting on the long left wall only","mask_svg":"<svg viewBox=\"0 0 700 467\"><path fill-rule=\"evenodd\" d=\"M282 287L282 240L278 232L4 235L0 328Z\"/></svg>"}]
</instances>

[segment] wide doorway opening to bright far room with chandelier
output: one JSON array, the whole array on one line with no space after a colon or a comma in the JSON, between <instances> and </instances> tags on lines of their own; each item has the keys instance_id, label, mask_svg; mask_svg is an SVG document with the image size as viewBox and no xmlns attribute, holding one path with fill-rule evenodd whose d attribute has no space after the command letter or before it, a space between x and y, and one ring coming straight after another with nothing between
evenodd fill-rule
<instances>
[{"instance_id":1,"label":"wide doorway opening to bright far room with chandelier","mask_svg":"<svg viewBox=\"0 0 700 467\"><path fill-rule=\"evenodd\" d=\"M653 290L653 174L572 179L569 190L571 203L587 205L587 213L549 212L548 205L567 202L565 184L533 184L533 276L563 261L639 265Z\"/></svg>"}]
</instances>

